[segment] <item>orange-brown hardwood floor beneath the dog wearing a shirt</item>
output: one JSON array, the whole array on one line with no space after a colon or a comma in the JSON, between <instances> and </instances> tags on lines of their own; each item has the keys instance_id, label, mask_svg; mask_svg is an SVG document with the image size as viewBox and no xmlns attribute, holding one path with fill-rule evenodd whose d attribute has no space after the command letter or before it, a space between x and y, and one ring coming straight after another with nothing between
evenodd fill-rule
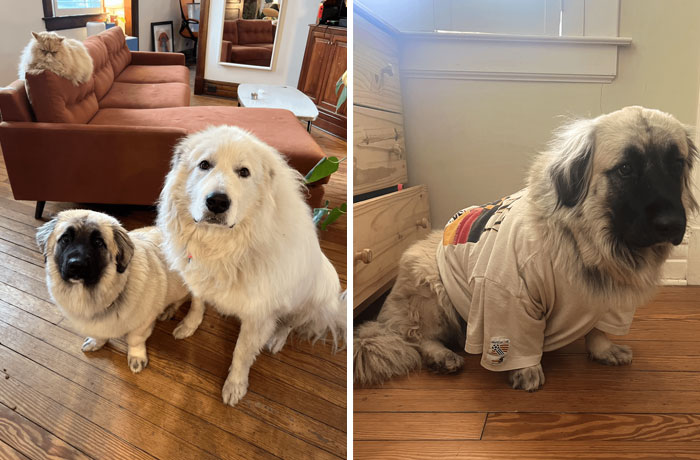
<instances>
[{"instance_id":1,"label":"orange-brown hardwood floor beneath the dog wearing a shirt","mask_svg":"<svg viewBox=\"0 0 700 460\"><path fill-rule=\"evenodd\" d=\"M355 388L354 458L700 458L699 296L664 287L638 309L616 340L630 366L590 362L582 340L545 353L535 393L466 354L456 375Z\"/></svg>"}]
</instances>

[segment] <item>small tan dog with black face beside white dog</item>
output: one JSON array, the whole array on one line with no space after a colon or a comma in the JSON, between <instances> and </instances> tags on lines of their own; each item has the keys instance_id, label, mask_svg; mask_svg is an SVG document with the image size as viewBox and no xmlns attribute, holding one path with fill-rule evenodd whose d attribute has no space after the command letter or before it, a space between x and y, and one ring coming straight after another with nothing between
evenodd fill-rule
<instances>
[{"instance_id":1,"label":"small tan dog with black face beside white dog","mask_svg":"<svg viewBox=\"0 0 700 460\"><path fill-rule=\"evenodd\" d=\"M156 227L127 233L106 214L63 211L37 230L46 258L51 297L75 328L88 337L83 351L99 350L108 339L125 337L132 372L148 364L146 340L156 318L167 319L189 297L182 278L170 270ZM171 306L168 308L168 306ZM183 328L196 328L201 302L193 299ZM161 315L159 317L159 315Z\"/></svg>"}]
</instances>

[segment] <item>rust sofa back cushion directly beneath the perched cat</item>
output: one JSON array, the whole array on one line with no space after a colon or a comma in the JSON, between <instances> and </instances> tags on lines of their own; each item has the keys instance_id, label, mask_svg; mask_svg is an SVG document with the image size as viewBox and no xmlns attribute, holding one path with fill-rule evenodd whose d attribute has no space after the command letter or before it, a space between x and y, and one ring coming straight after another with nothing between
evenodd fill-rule
<instances>
[{"instance_id":1,"label":"rust sofa back cushion directly beneath the perched cat","mask_svg":"<svg viewBox=\"0 0 700 460\"><path fill-rule=\"evenodd\" d=\"M87 123L97 113L95 79L79 86L45 70L25 76L27 94L37 121Z\"/></svg>"}]
</instances>

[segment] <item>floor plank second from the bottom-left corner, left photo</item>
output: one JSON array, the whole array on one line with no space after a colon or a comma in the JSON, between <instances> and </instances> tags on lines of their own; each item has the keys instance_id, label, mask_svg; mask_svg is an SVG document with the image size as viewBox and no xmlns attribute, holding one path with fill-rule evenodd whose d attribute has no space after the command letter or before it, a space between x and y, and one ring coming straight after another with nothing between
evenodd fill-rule
<instances>
[{"instance_id":1,"label":"floor plank second from the bottom-left corner, left photo","mask_svg":"<svg viewBox=\"0 0 700 460\"><path fill-rule=\"evenodd\" d=\"M105 460L154 458L13 376L0 378L0 403L14 407L16 413L50 430L90 457Z\"/></svg>"}]
</instances>

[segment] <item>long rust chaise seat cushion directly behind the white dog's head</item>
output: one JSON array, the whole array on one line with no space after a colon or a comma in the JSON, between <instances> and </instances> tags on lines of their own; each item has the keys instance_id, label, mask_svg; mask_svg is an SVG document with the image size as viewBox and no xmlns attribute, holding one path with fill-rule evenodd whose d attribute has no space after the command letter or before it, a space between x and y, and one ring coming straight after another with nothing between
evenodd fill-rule
<instances>
[{"instance_id":1,"label":"long rust chaise seat cushion directly behind the white dog's head","mask_svg":"<svg viewBox=\"0 0 700 460\"><path fill-rule=\"evenodd\" d=\"M102 109L90 124L175 127L184 128L188 133L201 131L208 126L238 126L286 155L289 164L302 174L309 172L325 156L294 114L283 109L215 106Z\"/></svg>"}]
</instances>

